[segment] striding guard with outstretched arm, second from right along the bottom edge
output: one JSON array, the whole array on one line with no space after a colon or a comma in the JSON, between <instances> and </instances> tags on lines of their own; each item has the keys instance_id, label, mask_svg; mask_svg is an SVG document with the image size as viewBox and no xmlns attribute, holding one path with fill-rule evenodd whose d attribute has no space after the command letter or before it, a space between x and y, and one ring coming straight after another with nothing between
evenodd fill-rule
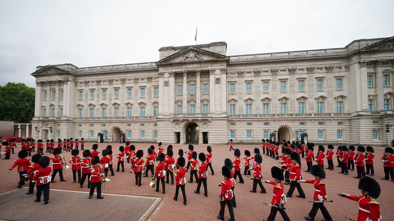
<instances>
[{"instance_id":1,"label":"striding guard with outstretched arm, second from right along the bottom edge","mask_svg":"<svg viewBox=\"0 0 394 221\"><path fill-rule=\"evenodd\" d=\"M333 221L331 215L327 211L327 208L324 206L324 201L327 200L326 192L325 192L325 183L323 179L325 179L325 171L323 168L318 165L313 165L310 172L315 177L313 180L298 180L298 182L312 183L315 192L313 194L313 205L310 210L308 216L305 216L306 220L314 220L318 210L322 212L325 221Z\"/></svg>"}]
</instances>

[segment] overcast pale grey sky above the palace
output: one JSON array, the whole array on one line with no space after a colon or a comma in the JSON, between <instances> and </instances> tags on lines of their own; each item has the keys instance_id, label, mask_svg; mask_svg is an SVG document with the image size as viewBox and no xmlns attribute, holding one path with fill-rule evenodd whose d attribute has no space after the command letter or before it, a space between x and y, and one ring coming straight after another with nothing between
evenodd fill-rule
<instances>
[{"instance_id":1,"label":"overcast pale grey sky above the palace","mask_svg":"<svg viewBox=\"0 0 394 221\"><path fill-rule=\"evenodd\" d=\"M164 46L227 42L227 55L340 48L394 35L394 1L2 0L0 77L36 66L158 61Z\"/></svg>"}]
</instances>

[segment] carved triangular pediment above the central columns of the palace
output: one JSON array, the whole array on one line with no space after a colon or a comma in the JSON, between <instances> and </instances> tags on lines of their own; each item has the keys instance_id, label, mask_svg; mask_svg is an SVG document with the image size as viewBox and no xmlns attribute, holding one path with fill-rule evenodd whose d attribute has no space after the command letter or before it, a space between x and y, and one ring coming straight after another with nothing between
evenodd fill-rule
<instances>
[{"instance_id":1,"label":"carved triangular pediment above the central columns of the palace","mask_svg":"<svg viewBox=\"0 0 394 221\"><path fill-rule=\"evenodd\" d=\"M182 51L161 59L160 61L156 62L156 65L167 63L199 62L217 59L229 59L229 57L190 46Z\"/></svg>"}]
</instances>

